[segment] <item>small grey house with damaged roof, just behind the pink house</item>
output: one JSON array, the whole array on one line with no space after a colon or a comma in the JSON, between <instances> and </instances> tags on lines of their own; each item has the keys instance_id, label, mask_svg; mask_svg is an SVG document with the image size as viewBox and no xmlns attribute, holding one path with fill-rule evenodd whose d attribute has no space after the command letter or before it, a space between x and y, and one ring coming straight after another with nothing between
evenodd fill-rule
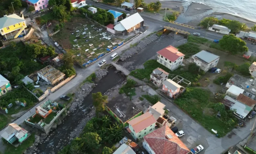
<instances>
[{"instance_id":1,"label":"small grey house with damaged roof, just behind the pink house","mask_svg":"<svg viewBox=\"0 0 256 154\"><path fill-rule=\"evenodd\" d=\"M157 87L160 87L161 84L168 79L169 73L164 71L162 68L156 68L150 74L150 81Z\"/></svg>"}]
</instances>

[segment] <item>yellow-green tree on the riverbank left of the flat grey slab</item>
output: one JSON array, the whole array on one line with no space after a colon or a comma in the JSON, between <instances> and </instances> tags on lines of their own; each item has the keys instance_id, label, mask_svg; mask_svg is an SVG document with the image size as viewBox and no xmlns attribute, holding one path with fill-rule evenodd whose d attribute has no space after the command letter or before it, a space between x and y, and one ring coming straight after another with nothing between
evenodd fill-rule
<instances>
[{"instance_id":1,"label":"yellow-green tree on the riverbank left of the flat grey slab","mask_svg":"<svg viewBox=\"0 0 256 154\"><path fill-rule=\"evenodd\" d=\"M93 105L96 108L96 114L98 116L99 112L104 111L105 104L107 101L108 96L102 95L101 92L93 93Z\"/></svg>"}]
</instances>

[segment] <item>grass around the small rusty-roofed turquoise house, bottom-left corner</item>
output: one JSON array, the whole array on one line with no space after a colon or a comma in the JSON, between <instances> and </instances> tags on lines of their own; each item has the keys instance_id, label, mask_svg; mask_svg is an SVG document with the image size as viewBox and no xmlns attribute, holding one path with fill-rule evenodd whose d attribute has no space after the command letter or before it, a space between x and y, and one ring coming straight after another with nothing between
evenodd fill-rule
<instances>
[{"instance_id":1,"label":"grass around the small rusty-roofed turquoise house, bottom-left corner","mask_svg":"<svg viewBox=\"0 0 256 154\"><path fill-rule=\"evenodd\" d=\"M32 133L31 136L24 141L20 146L14 147L13 145L7 143L3 139L3 143L6 145L6 149L4 153L8 154L21 154L23 153L28 147L30 147L35 142L35 134Z\"/></svg>"}]
</instances>

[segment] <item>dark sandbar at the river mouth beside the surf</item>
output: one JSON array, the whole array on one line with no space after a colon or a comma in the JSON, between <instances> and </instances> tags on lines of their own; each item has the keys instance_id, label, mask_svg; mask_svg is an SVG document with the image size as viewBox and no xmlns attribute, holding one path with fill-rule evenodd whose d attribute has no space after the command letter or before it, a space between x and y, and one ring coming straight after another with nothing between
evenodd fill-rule
<instances>
[{"instance_id":1,"label":"dark sandbar at the river mouth beside the surf","mask_svg":"<svg viewBox=\"0 0 256 154\"><path fill-rule=\"evenodd\" d=\"M195 14L201 14L207 10L212 10L211 7L199 4L199 3L191 3L188 7L187 11L185 12L185 15L195 15Z\"/></svg>"}]
</instances>

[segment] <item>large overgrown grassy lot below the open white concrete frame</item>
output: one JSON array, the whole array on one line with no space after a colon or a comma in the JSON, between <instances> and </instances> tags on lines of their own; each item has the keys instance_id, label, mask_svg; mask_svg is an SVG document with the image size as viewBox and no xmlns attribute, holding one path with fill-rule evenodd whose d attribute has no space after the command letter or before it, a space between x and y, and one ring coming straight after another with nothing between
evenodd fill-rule
<instances>
[{"instance_id":1,"label":"large overgrown grassy lot below the open white concrete frame","mask_svg":"<svg viewBox=\"0 0 256 154\"><path fill-rule=\"evenodd\" d=\"M211 129L214 129L218 132L218 137L223 137L234 128L237 119L232 115L231 110L225 109L222 110L221 118L216 118L219 104L211 103L210 101L213 100L210 91L188 87L186 92L174 102L208 131L213 133ZM224 105L222 107L225 108Z\"/></svg>"}]
</instances>

